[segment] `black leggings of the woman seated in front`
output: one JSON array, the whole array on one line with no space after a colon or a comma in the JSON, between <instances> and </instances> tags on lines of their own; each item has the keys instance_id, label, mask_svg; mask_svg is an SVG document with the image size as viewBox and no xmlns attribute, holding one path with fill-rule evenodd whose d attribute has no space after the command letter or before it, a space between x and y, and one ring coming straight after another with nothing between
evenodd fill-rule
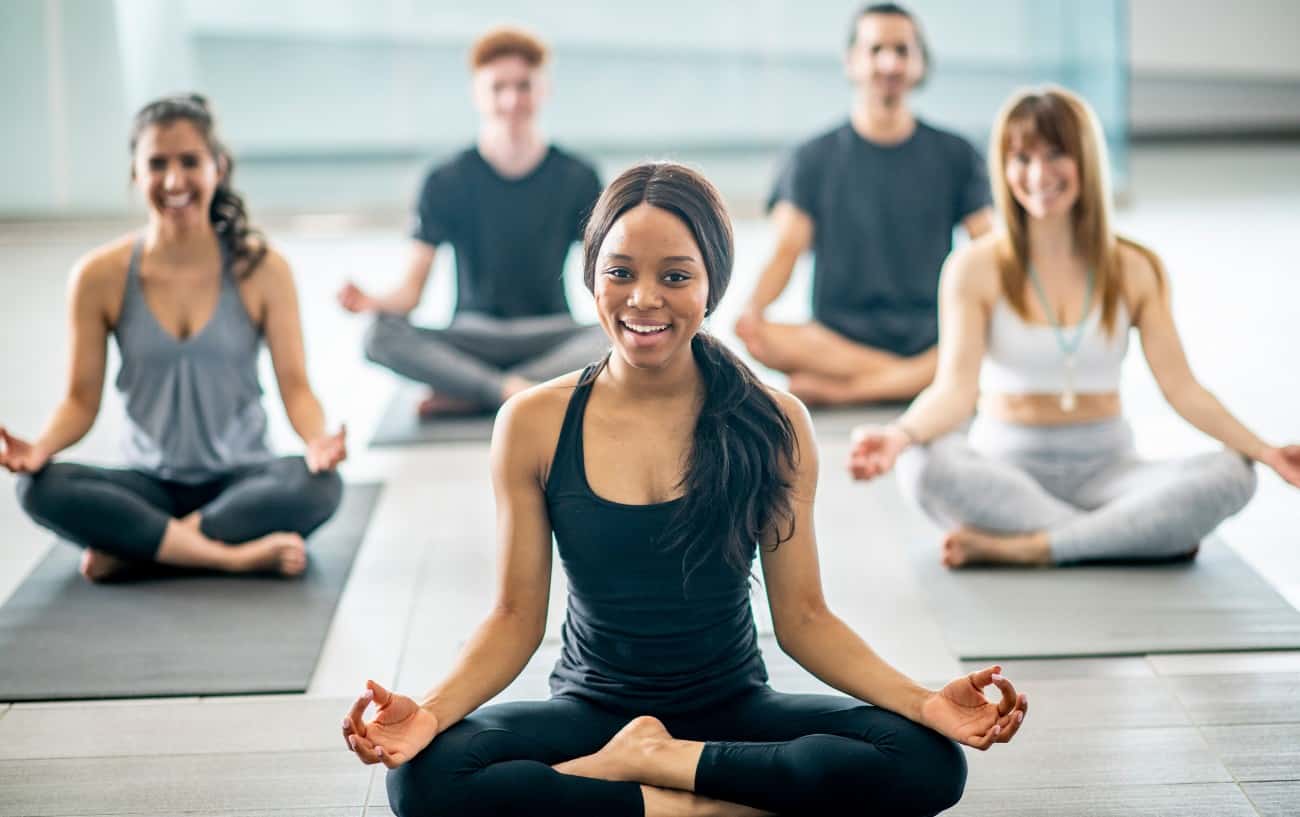
<instances>
[{"instance_id":1,"label":"black leggings of the woman seated in front","mask_svg":"<svg viewBox=\"0 0 1300 817\"><path fill-rule=\"evenodd\" d=\"M485 706L390 771L389 803L398 817L641 817L638 783L551 769L595 752L630 719L568 696ZM762 687L660 719L675 738L707 742L696 794L779 814L930 816L966 784L952 740L848 697Z\"/></svg>"}]
</instances>

